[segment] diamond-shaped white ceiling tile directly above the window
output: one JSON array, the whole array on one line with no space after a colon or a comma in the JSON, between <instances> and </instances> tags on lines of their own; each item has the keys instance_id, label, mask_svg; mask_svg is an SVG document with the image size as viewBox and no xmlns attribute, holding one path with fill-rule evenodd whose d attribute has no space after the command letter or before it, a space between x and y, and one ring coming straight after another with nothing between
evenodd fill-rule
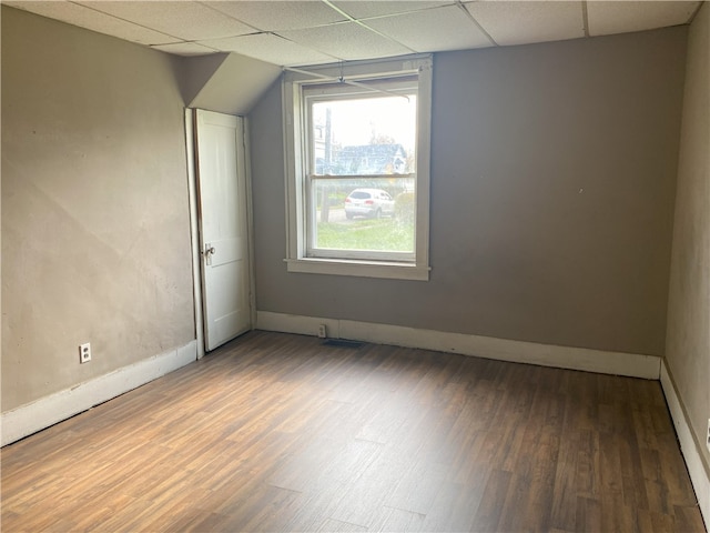
<instances>
[{"instance_id":1,"label":"diamond-shaped white ceiling tile directly above the window","mask_svg":"<svg viewBox=\"0 0 710 533\"><path fill-rule=\"evenodd\" d=\"M280 31L294 42L344 60L387 58L413 50L363 28L356 22L342 22L304 30Z\"/></svg>"}]
</instances>

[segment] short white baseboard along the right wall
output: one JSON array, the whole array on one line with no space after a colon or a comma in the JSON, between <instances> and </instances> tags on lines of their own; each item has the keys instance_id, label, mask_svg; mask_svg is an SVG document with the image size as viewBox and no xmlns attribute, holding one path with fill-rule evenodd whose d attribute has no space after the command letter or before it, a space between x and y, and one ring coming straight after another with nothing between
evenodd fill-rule
<instances>
[{"instance_id":1,"label":"short white baseboard along the right wall","mask_svg":"<svg viewBox=\"0 0 710 533\"><path fill-rule=\"evenodd\" d=\"M676 434L680 442L680 452L683 454L688 472L690 474L690 481L692 487L696 491L696 497L698 499L698 505L700 506L700 513L706 522L706 526L710 525L710 475L702 464L700 451L698 450L698 443L692 438L690 424L686 418L686 410L680 403L680 396L676 391L676 385L671 379L670 372L666 366L666 361L661 364L661 386L663 388L663 394L666 395L666 402L670 410L670 416L676 426Z\"/></svg>"}]
</instances>

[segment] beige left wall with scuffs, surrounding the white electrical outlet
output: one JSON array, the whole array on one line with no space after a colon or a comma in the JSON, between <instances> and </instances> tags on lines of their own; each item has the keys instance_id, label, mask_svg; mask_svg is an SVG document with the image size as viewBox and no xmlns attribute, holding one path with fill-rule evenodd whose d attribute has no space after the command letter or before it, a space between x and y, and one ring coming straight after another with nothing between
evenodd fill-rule
<instances>
[{"instance_id":1,"label":"beige left wall with scuffs, surrounding the white electrical outlet","mask_svg":"<svg viewBox=\"0 0 710 533\"><path fill-rule=\"evenodd\" d=\"M3 412L195 338L186 180L166 54L2 8Z\"/></svg>"}]
</instances>

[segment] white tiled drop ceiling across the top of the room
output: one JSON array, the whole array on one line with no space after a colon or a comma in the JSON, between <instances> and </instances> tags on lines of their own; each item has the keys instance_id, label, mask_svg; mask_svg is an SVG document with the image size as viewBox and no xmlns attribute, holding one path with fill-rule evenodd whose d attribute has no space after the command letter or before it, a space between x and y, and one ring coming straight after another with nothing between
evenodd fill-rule
<instances>
[{"instance_id":1,"label":"white tiled drop ceiling across the top of the room","mask_svg":"<svg viewBox=\"0 0 710 533\"><path fill-rule=\"evenodd\" d=\"M701 1L10 1L178 56L280 67L500 47L687 24Z\"/></svg>"}]
</instances>

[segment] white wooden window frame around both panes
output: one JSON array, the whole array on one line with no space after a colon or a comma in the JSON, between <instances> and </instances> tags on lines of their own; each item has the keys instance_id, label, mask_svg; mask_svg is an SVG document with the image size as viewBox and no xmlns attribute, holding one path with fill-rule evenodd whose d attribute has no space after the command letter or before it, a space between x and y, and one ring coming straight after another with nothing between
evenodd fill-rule
<instances>
[{"instance_id":1,"label":"white wooden window frame around both panes","mask_svg":"<svg viewBox=\"0 0 710 533\"><path fill-rule=\"evenodd\" d=\"M367 86L367 80L417 74L416 227L415 258L372 254L371 259L308 255L306 173L308 142L304 88L345 80ZM403 280L429 279L429 144L432 124L432 56L286 69L282 86L286 177L286 268L288 272L356 275Z\"/></svg>"}]
</instances>

